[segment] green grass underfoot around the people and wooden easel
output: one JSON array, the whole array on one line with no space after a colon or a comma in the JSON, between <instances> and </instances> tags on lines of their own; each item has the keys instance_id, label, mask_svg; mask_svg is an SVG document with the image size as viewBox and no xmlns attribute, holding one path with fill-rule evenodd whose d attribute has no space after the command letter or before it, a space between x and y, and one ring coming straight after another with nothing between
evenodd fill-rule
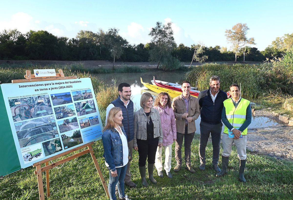
<instances>
[{"instance_id":1,"label":"green grass underfoot around the people and wooden easel","mask_svg":"<svg viewBox=\"0 0 293 200\"><path fill-rule=\"evenodd\" d=\"M195 165L195 174L181 168L178 173L172 170L173 178L169 179L165 173L163 178L158 177L155 170L158 184L149 181L149 187L142 187L138 170L138 153L134 152L131 172L137 187L134 189L125 187L125 193L131 199L293 199L293 162L248 153L245 170L247 182L243 184L238 181L238 159L235 148L230 156L228 175L217 178L210 166L211 144L207 146L206 170L202 172L197 168L198 144L199 138L196 135L192 143L191 156L192 164ZM93 148L108 183L109 174L102 157L101 141L96 142ZM173 151L172 167L175 163ZM34 170L33 167L28 167L22 172L18 171L1 179L1 199L38 199L38 184L33 174ZM44 175L43 173L45 184ZM50 184L49 200L107 199L89 154L50 170Z\"/></svg>"}]
</instances>

